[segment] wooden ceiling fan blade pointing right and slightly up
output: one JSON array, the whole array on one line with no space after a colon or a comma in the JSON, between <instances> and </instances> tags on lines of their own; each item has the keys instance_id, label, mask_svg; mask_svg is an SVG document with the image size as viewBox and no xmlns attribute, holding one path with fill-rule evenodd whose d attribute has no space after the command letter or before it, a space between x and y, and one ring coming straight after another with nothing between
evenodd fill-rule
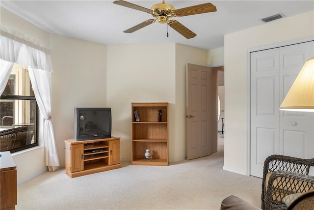
<instances>
[{"instance_id":1,"label":"wooden ceiling fan blade pointing right and slightly up","mask_svg":"<svg viewBox=\"0 0 314 210\"><path fill-rule=\"evenodd\" d=\"M212 3L203 3L195 6L184 7L181 9L174 10L174 17L182 17L187 15L197 15L207 12L215 12L217 11L216 6Z\"/></svg>"}]
</instances>

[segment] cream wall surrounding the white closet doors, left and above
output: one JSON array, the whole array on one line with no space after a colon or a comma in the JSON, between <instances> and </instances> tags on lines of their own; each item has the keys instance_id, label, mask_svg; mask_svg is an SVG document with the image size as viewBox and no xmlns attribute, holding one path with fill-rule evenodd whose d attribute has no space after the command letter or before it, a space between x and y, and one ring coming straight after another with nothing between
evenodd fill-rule
<instances>
[{"instance_id":1,"label":"cream wall surrounding the white closet doors, left and above","mask_svg":"<svg viewBox=\"0 0 314 210\"><path fill-rule=\"evenodd\" d=\"M224 169L249 174L248 49L314 35L314 11L225 35Z\"/></svg>"}]
</instances>

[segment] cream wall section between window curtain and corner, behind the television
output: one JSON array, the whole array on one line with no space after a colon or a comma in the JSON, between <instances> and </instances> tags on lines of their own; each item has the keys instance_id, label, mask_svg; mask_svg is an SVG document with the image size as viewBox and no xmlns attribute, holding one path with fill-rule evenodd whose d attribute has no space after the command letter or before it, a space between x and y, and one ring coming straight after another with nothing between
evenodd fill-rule
<instances>
[{"instance_id":1,"label":"cream wall section between window curtain and corner, behind the television","mask_svg":"<svg viewBox=\"0 0 314 210\"><path fill-rule=\"evenodd\" d=\"M75 107L106 107L106 45L51 35L52 119L60 167Z\"/></svg>"}]
</instances>

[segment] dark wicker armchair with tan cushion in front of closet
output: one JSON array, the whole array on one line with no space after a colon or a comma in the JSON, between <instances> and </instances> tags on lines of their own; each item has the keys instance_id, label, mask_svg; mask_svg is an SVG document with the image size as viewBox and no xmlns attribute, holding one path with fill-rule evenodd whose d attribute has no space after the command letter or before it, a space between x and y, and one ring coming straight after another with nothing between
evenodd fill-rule
<instances>
[{"instance_id":1,"label":"dark wicker armchair with tan cushion in front of closet","mask_svg":"<svg viewBox=\"0 0 314 210\"><path fill-rule=\"evenodd\" d=\"M264 162L262 178L262 209L285 210L285 198L290 194L314 189L314 177L309 176L314 158L302 159L270 155Z\"/></svg>"}]
</instances>

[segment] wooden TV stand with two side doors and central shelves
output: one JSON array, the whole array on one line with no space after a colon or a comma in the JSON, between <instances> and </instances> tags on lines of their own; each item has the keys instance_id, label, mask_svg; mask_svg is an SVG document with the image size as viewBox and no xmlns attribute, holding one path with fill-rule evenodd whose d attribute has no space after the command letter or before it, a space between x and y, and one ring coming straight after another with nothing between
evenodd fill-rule
<instances>
[{"instance_id":1,"label":"wooden TV stand with two side doors and central shelves","mask_svg":"<svg viewBox=\"0 0 314 210\"><path fill-rule=\"evenodd\" d=\"M120 137L64 142L65 173L71 178L121 168Z\"/></svg>"}]
</instances>

